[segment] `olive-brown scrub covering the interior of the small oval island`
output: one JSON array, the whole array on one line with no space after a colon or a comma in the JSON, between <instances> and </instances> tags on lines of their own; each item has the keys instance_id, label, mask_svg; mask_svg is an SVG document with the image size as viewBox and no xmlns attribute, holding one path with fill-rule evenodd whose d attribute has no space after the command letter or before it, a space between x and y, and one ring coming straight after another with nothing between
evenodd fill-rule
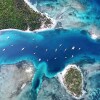
<instances>
[{"instance_id":1,"label":"olive-brown scrub covering the interior of the small oval island","mask_svg":"<svg viewBox=\"0 0 100 100\"><path fill-rule=\"evenodd\" d=\"M78 69L71 67L65 75L64 82L74 96L79 97L82 94L82 76Z\"/></svg>"}]
</instances>

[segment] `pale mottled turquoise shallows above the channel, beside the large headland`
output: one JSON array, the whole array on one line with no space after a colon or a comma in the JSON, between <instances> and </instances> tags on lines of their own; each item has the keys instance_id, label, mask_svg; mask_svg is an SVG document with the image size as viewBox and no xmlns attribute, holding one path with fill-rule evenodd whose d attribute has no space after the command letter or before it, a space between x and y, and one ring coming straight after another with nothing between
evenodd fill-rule
<instances>
[{"instance_id":1,"label":"pale mottled turquoise shallows above the channel, beside the large headland","mask_svg":"<svg viewBox=\"0 0 100 100\"><path fill-rule=\"evenodd\" d=\"M30 0L36 8L54 18L60 27L100 29L100 0Z\"/></svg>"}]
</instances>

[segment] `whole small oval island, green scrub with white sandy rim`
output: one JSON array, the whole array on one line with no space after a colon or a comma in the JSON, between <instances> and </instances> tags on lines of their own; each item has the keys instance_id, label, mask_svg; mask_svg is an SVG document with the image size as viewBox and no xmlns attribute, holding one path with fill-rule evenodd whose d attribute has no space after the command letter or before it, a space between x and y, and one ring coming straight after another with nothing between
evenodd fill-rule
<instances>
[{"instance_id":1,"label":"whole small oval island, green scrub with white sandy rim","mask_svg":"<svg viewBox=\"0 0 100 100\"><path fill-rule=\"evenodd\" d=\"M58 74L58 80L73 97L80 98L83 95L83 76L76 65L67 66Z\"/></svg>"}]
</instances>

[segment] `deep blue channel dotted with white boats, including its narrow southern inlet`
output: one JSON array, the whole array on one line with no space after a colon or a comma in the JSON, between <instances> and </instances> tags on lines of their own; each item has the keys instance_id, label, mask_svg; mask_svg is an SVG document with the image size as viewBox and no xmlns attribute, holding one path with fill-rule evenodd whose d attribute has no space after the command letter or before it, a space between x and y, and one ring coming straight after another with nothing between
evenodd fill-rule
<instances>
[{"instance_id":1,"label":"deep blue channel dotted with white boats, including its narrow southern inlet","mask_svg":"<svg viewBox=\"0 0 100 100\"><path fill-rule=\"evenodd\" d=\"M36 91L44 74L52 78L66 65L84 56L100 59L100 41L93 40L84 30L52 29L29 33L8 30L0 34L0 64L32 62L38 69L32 80L32 89Z\"/></svg>"}]
</instances>

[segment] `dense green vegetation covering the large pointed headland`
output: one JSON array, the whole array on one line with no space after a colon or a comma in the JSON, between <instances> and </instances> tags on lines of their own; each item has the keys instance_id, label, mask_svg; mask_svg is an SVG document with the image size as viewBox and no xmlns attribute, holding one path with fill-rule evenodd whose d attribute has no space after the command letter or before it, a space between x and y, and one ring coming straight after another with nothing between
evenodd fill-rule
<instances>
[{"instance_id":1,"label":"dense green vegetation covering the large pointed headland","mask_svg":"<svg viewBox=\"0 0 100 100\"><path fill-rule=\"evenodd\" d=\"M31 30L40 28L42 22L46 26L51 24L50 19L33 11L24 0L0 0L0 29L16 28Z\"/></svg>"}]
</instances>

